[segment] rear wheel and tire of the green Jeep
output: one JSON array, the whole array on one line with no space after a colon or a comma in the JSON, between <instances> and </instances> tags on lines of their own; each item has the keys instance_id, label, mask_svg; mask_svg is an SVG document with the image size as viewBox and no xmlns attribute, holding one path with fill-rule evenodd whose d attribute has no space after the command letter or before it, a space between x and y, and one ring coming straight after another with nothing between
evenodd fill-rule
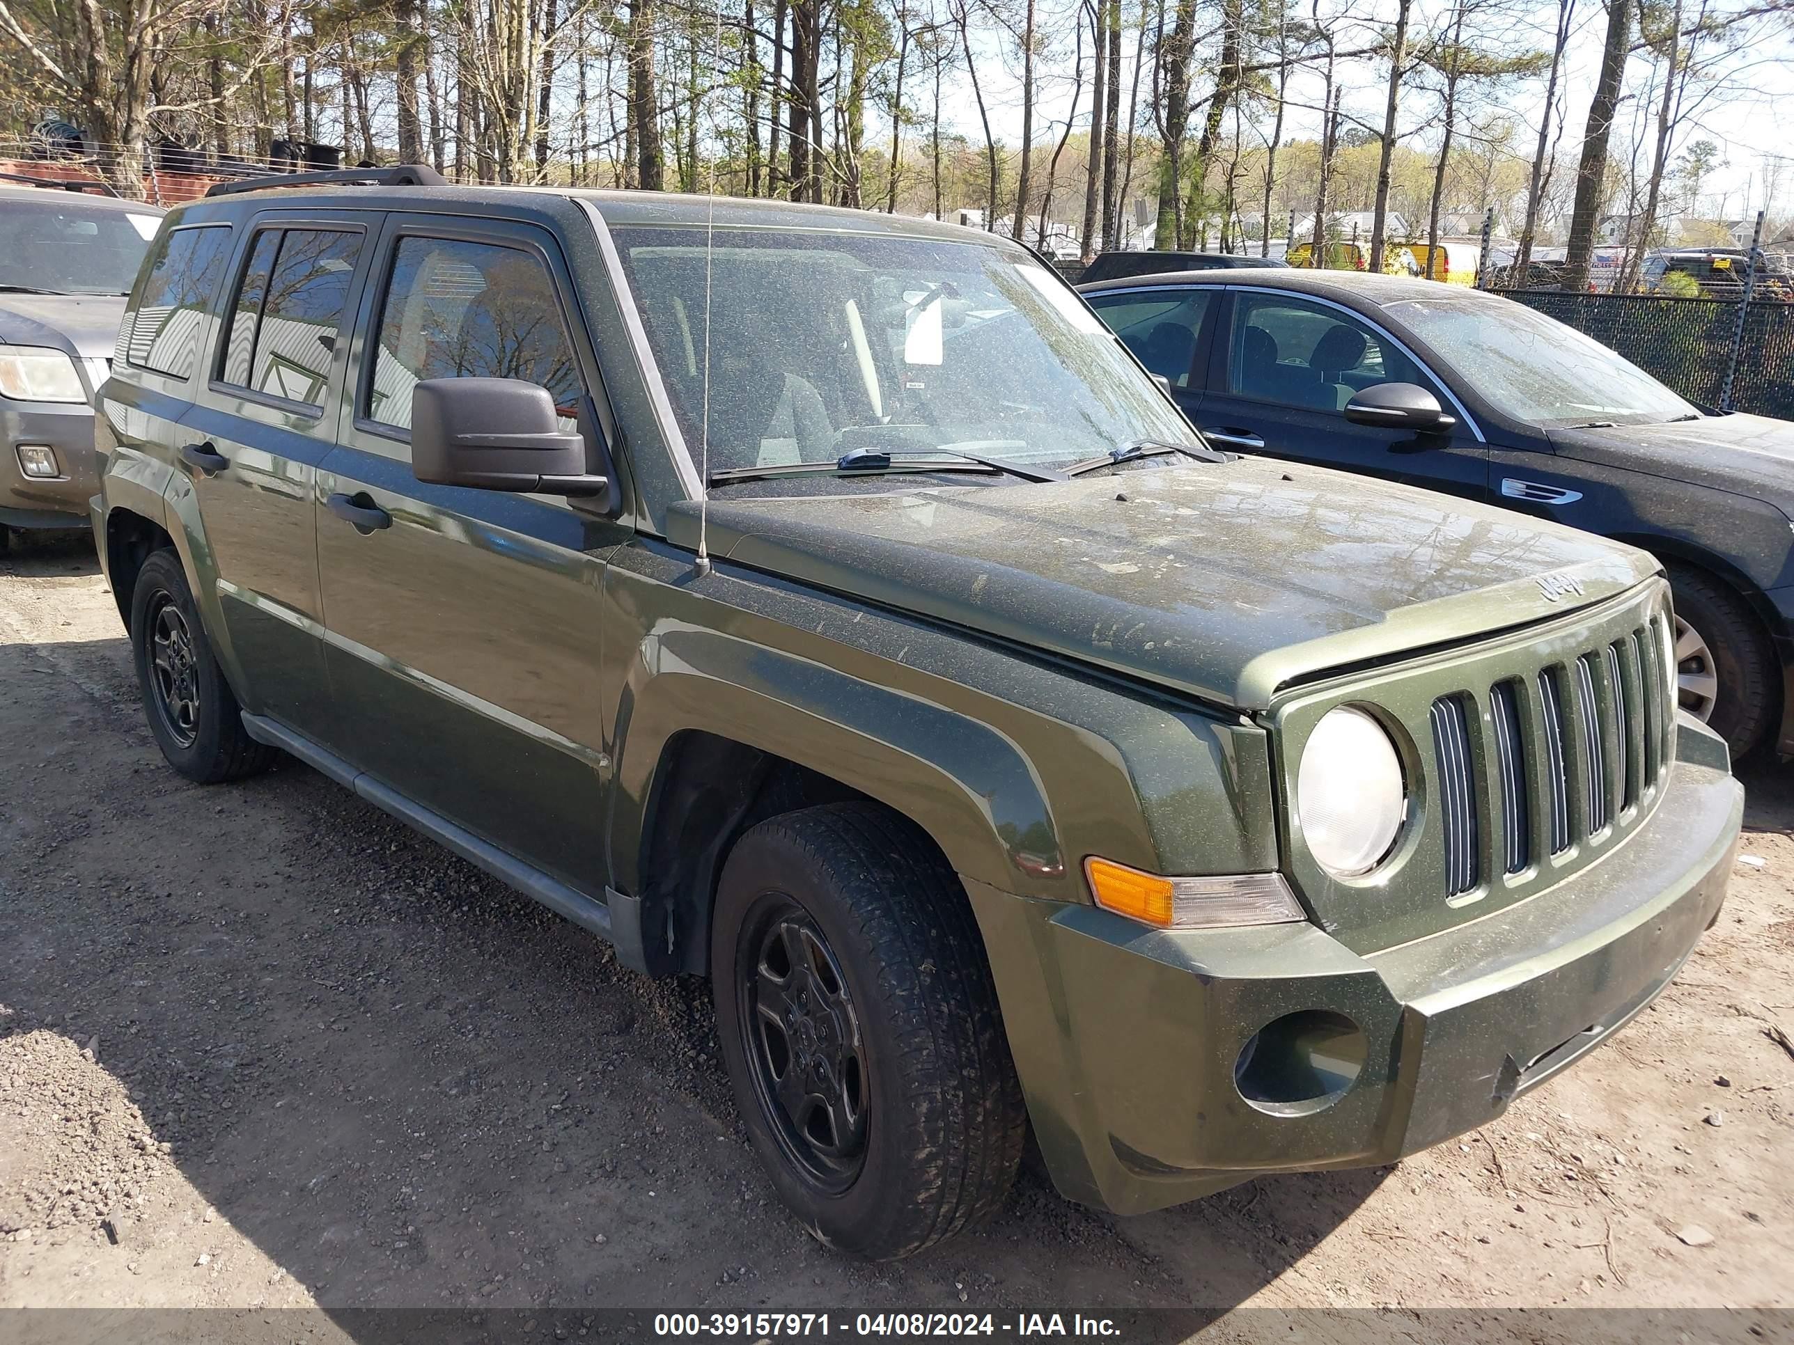
<instances>
[{"instance_id":1,"label":"rear wheel and tire of the green Jeep","mask_svg":"<svg viewBox=\"0 0 1794 1345\"><path fill-rule=\"evenodd\" d=\"M154 551L131 592L131 651L149 732L169 766L197 784L240 780L276 753L242 726L242 712L172 551ZM160 662L158 662L160 660Z\"/></svg>"}]
</instances>

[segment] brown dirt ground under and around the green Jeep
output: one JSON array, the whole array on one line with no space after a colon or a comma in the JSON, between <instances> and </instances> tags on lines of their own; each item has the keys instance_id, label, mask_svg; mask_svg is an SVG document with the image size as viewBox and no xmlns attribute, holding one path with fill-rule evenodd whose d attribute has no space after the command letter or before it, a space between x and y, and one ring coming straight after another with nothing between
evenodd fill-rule
<instances>
[{"instance_id":1,"label":"brown dirt ground under and around the green Jeep","mask_svg":"<svg viewBox=\"0 0 1794 1345\"><path fill-rule=\"evenodd\" d=\"M1747 787L1676 985L1500 1123L1132 1219L1024 1175L988 1228L863 1266L773 1200L701 986L301 766L183 782L91 549L29 543L0 561L0 1307L1789 1307L1794 768Z\"/></svg>"}]
</instances>

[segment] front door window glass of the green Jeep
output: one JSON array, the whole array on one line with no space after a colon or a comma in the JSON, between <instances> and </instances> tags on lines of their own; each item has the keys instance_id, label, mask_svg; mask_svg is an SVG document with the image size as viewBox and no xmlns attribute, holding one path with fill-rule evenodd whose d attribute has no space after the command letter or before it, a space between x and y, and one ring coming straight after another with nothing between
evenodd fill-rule
<instances>
[{"instance_id":1,"label":"front door window glass of the green Jeep","mask_svg":"<svg viewBox=\"0 0 1794 1345\"><path fill-rule=\"evenodd\" d=\"M411 429L411 389L425 378L524 378L579 414L579 364L554 278L533 253L490 242L402 237L380 308L362 414Z\"/></svg>"}]
</instances>

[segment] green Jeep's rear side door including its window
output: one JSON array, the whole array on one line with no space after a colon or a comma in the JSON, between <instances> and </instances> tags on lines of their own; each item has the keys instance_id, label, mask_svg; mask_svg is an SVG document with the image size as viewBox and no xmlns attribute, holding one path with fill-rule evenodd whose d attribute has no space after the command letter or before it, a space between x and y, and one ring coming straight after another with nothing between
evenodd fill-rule
<instances>
[{"instance_id":1,"label":"green Jeep's rear side door including its window","mask_svg":"<svg viewBox=\"0 0 1794 1345\"><path fill-rule=\"evenodd\" d=\"M310 732L330 694L314 491L337 430L370 217L271 210L237 247L205 386L179 429L244 708Z\"/></svg>"}]
</instances>

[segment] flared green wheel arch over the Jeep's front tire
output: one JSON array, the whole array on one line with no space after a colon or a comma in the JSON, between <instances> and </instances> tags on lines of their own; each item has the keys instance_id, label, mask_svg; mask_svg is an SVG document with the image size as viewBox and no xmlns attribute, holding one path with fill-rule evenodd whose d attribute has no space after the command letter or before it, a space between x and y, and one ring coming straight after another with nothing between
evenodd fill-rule
<instances>
[{"instance_id":1,"label":"flared green wheel arch over the Jeep's front tire","mask_svg":"<svg viewBox=\"0 0 1794 1345\"><path fill-rule=\"evenodd\" d=\"M640 902L649 970L709 968L728 845L811 803L883 803L956 873L1076 898L1041 780L988 725L721 633L682 631L676 646L678 658L644 649L639 667L678 671L631 681L617 730L612 870Z\"/></svg>"}]
</instances>

